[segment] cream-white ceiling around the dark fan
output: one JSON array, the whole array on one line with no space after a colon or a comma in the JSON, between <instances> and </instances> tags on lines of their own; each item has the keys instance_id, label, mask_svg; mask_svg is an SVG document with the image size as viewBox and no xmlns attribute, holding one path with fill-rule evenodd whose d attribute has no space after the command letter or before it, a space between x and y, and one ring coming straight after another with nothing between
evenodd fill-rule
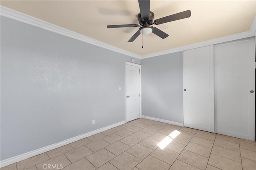
<instances>
[{"instance_id":1,"label":"cream-white ceiling around the dark fan","mask_svg":"<svg viewBox=\"0 0 256 170\"><path fill-rule=\"evenodd\" d=\"M151 0L150 11L154 12L155 19L185 10L191 10L191 17L155 25L169 36L161 39L153 33L143 35L142 49L142 34L134 42L127 42L138 31L138 27L106 27L138 24L137 15L140 9L137 0L1 0L1 6L138 55L148 55L249 31L256 13L255 0Z\"/></svg>"}]
</instances>

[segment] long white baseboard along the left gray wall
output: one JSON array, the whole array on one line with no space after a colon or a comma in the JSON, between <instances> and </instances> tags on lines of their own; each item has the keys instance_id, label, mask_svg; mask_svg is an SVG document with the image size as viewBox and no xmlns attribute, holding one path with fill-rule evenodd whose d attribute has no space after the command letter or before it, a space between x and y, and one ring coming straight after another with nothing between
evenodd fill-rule
<instances>
[{"instance_id":1,"label":"long white baseboard along the left gray wall","mask_svg":"<svg viewBox=\"0 0 256 170\"><path fill-rule=\"evenodd\" d=\"M46 147L43 147L43 148L40 148L40 149L36 149L36 150L32 150L30 152L26 152L24 154L20 154L20 155L17 155L17 156L14 156L12 158L8 158L8 159L5 159L5 160L2 160L0 162L0 167L4 167L4 166L8 166L10 164L13 164L15 162L19 162L21 160L25 160L27 158L31 158L32 156L36 156L38 154L42 154L44 152L47 152L49 150L52 150L52 149L56 149L58 147L62 147L64 145L68 145L70 143L73 143L75 141L78 141L80 139L84 139L86 137L89 137L89 136L92 136L92 135L95 135L96 133L100 133L100 132L103 132L103 131L106 131L108 129L111 129L113 127L117 127L119 125L123 125L125 123L125 121L120 121L118 123L115 123L113 125L109 125L109 126L106 126L106 127L102 127L100 129L96 129L94 131L91 131L91 132L88 132L88 133L84 133L82 135L78 135L76 137L72 137L70 139L67 139L65 141L61 141L61 142L58 142L58 143L54 143L52 145L48 145Z\"/></svg>"}]
</instances>

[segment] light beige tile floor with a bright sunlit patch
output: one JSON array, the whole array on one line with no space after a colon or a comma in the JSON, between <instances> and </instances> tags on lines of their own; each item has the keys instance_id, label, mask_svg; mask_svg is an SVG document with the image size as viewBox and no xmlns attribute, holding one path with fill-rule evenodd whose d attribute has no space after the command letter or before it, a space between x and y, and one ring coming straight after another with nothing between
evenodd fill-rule
<instances>
[{"instance_id":1,"label":"light beige tile floor with a bright sunlit patch","mask_svg":"<svg viewBox=\"0 0 256 170\"><path fill-rule=\"evenodd\" d=\"M48 164L64 170L256 170L256 142L140 118L1 170Z\"/></svg>"}]
</instances>

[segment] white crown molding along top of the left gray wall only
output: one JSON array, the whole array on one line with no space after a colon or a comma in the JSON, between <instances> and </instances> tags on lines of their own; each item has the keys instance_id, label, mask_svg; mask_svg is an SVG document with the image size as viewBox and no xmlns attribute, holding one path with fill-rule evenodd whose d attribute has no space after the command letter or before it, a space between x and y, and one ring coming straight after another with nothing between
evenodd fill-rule
<instances>
[{"instance_id":1,"label":"white crown molding along top of the left gray wall only","mask_svg":"<svg viewBox=\"0 0 256 170\"><path fill-rule=\"evenodd\" d=\"M96 39L86 37L82 34L76 33L74 31L70 31L68 29L65 29L63 27L59 27L57 25L54 25L52 23L40 20L38 18L34 18L32 16L23 14L21 12L18 12L16 10L12 10L12 9L7 8L5 6L0 6L0 11L1 11L1 16L12 18L14 20L18 20L18 21L21 21L21 22L24 22L24 23L28 23L30 25L34 25L36 27L40 27L40 28L46 29L48 31L59 33L61 35L65 35L67 37L71 37L71 38L74 38L74 39L77 39L77 40L80 40L80 41L83 41L83 42L86 42L86 43L90 43L92 45L96 45L98 47L102 47L102 48L105 48L105 49L109 49L111 51L115 51L115 52L118 52L118 53L121 53L121 54L124 54L124 55L128 55L128 56L131 56L131 57L134 57L134 58L137 58L137 59L141 59L140 55L137 55L137 54L132 53L130 51L126 51L124 49L114 47L113 45L109 45L109 44L103 43L101 41L98 41Z\"/></svg>"}]
</instances>

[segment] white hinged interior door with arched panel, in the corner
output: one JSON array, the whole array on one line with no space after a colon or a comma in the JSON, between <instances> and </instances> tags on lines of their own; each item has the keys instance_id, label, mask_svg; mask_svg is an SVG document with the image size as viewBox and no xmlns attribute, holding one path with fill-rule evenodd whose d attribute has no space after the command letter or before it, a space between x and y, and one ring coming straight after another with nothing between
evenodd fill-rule
<instances>
[{"instance_id":1,"label":"white hinged interior door with arched panel, in the corner","mask_svg":"<svg viewBox=\"0 0 256 170\"><path fill-rule=\"evenodd\" d=\"M140 117L140 69L140 65L126 62L126 122Z\"/></svg>"}]
</instances>

